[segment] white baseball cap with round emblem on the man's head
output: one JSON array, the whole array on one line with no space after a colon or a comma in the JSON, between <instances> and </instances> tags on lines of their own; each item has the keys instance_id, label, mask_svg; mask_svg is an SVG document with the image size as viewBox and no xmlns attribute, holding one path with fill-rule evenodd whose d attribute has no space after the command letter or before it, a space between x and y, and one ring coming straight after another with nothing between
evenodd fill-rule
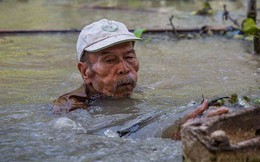
<instances>
[{"instance_id":1,"label":"white baseball cap with round emblem on the man's head","mask_svg":"<svg viewBox=\"0 0 260 162\"><path fill-rule=\"evenodd\" d=\"M113 45L140 40L129 32L125 24L102 19L85 26L78 37L77 54L80 61L83 51L97 52Z\"/></svg>"}]
</instances>

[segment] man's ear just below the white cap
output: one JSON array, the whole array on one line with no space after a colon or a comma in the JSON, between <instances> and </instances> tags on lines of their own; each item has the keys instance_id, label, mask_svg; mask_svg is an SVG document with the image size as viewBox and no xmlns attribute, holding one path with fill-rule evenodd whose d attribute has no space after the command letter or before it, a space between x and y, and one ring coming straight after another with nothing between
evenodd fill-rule
<instances>
[{"instance_id":1,"label":"man's ear just below the white cap","mask_svg":"<svg viewBox=\"0 0 260 162\"><path fill-rule=\"evenodd\" d=\"M84 83L90 84L92 79L89 65L86 62L79 62L77 66Z\"/></svg>"}]
</instances>

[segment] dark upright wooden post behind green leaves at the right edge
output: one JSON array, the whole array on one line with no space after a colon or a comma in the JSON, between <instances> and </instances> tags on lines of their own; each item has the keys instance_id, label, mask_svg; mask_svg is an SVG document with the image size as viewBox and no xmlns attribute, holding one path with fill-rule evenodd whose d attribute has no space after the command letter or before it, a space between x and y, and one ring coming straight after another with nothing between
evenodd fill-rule
<instances>
[{"instance_id":1,"label":"dark upright wooden post behind green leaves at the right edge","mask_svg":"<svg viewBox=\"0 0 260 162\"><path fill-rule=\"evenodd\" d=\"M256 0L248 0L247 18L252 18L256 22ZM254 36L254 52L260 55L260 33Z\"/></svg>"}]
</instances>

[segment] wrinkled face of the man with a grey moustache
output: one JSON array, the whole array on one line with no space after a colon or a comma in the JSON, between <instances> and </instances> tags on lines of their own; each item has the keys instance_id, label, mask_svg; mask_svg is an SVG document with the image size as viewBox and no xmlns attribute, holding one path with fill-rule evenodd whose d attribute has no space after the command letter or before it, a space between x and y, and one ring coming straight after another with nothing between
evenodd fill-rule
<instances>
[{"instance_id":1,"label":"wrinkled face of the man with a grey moustache","mask_svg":"<svg viewBox=\"0 0 260 162\"><path fill-rule=\"evenodd\" d=\"M139 70L132 42L114 45L88 55L91 64L89 82L97 92L115 98L132 94Z\"/></svg>"}]
</instances>

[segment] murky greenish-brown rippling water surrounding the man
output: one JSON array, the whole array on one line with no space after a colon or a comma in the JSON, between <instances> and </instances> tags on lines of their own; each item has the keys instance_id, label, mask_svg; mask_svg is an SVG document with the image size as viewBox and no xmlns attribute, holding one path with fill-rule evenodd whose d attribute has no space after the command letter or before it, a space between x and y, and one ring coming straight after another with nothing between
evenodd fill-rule
<instances>
[{"instance_id":1,"label":"murky greenish-brown rippling water surrounding the man","mask_svg":"<svg viewBox=\"0 0 260 162\"><path fill-rule=\"evenodd\" d=\"M244 16L244 2L213 2L217 7L231 4L236 17ZM121 9L89 7L100 5ZM169 28L171 14L178 26L222 25L219 14L190 16L197 6L200 2L192 0L2 0L0 28L81 28L103 17L130 28ZM122 7L130 9L122 12ZM177 41L170 34L144 35L136 44L140 71L131 99L102 100L89 111L55 116L51 101L81 84L77 36L0 36L0 161L181 161L181 142L160 136L196 106L201 95L260 96L260 59L251 54L252 42L224 36ZM131 135L118 137L117 131L130 127Z\"/></svg>"}]
</instances>

